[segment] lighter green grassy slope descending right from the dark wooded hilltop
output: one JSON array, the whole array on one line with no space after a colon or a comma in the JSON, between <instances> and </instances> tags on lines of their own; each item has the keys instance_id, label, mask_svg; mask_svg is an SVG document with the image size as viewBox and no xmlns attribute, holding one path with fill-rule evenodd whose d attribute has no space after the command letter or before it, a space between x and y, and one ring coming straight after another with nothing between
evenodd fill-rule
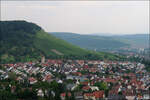
<instances>
[{"instance_id":1,"label":"lighter green grassy slope descending right from the dark wooded hilltop","mask_svg":"<svg viewBox=\"0 0 150 100\"><path fill-rule=\"evenodd\" d=\"M105 52L94 52L79 48L78 46L72 45L64 40L56 38L44 31L40 31L36 34L34 40L34 45L36 48L39 48L41 51L44 51L47 55L57 55L52 51L52 49L57 50L58 52L63 53L64 55L76 55L76 56L86 56L86 55L97 55L99 58L117 60L121 58L111 53Z\"/></svg>"}]
</instances>

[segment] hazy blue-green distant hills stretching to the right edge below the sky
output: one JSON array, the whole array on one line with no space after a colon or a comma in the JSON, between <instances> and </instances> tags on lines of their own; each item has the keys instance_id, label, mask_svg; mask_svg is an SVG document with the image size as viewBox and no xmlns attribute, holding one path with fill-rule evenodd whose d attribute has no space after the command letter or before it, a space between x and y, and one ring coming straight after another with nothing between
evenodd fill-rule
<instances>
[{"instance_id":1,"label":"hazy blue-green distant hills stretching to the right edge below the sky","mask_svg":"<svg viewBox=\"0 0 150 100\"><path fill-rule=\"evenodd\" d=\"M120 48L148 48L148 34L134 35L81 35L67 32L52 32L52 35L82 48L97 51L111 51Z\"/></svg>"}]
</instances>

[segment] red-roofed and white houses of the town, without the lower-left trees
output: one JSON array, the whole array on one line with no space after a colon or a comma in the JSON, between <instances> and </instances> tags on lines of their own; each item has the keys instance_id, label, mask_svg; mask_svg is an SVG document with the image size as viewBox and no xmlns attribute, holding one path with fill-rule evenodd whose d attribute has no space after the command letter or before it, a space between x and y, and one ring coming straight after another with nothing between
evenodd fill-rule
<instances>
[{"instance_id":1,"label":"red-roofed and white houses of the town, without the lower-left trees","mask_svg":"<svg viewBox=\"0 0 150 100\"><path fill-rule=\"evenodd\" d=\"M149 100L150 73L145 66L136 62L122 61L89 61L89 60L52 60L3 64L0 69L0 80L9 78L9 73L17 75L16 80L35 84L38 80L66 83L68 93L61 93L65 100L66 94L71 96L74 91L76 100ZM65 75L58 77L56 75ZM69 82L68 82L69 81ZM107 89L101 89L96 83L105 83ZM55 91L54 91L55 92ZM37 96L44 96L42 89Z\"/></svg>"}]
</instances>

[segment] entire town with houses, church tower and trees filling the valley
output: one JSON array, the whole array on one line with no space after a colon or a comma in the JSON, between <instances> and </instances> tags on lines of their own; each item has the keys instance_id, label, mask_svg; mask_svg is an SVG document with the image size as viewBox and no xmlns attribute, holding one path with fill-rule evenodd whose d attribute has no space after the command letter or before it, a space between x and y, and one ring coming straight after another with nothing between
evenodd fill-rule
<instances>
[{"instance_id":1,"label":"entire town with houses, church tower and trees filling the valley","mask_svg":"<svg viewBox=\"0 0 150 100\"><path fill-rule=\"evenodd\" d=\"M42 56L41 61L1 64L0 68L0 90L19 95L18 100L26 96L33 100L150 99L150 72L137 62Z\"/></svg>"}]
</instances>

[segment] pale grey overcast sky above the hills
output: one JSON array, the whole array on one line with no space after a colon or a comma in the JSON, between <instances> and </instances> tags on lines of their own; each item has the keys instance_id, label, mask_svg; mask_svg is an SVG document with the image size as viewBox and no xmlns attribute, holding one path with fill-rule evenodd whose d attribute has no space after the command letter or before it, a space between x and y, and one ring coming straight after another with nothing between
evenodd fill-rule
<instances>
[{"instance_id":1,"label":"pale grey overcast sky above the hills","mask_svg":"<svg viewBox=\"0 0 150 100\"><path fill-rule=\"evenodd\" d=\"M149 33L149 1L2 1L1 20L26 20L47 32Z\"/></svg>"}]
</instances>

